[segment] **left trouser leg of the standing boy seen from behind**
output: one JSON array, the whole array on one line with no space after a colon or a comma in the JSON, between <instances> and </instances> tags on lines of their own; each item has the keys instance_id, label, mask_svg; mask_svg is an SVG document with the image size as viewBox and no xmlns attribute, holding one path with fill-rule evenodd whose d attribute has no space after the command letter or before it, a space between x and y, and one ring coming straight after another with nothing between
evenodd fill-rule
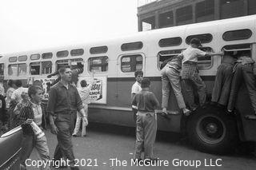
<instances>
[{"instance_id":1,"label":"left trouser leg of the standing boy seen from behind","mask_svg":"<svg viewBox=\"0 0 256 170\"><path fill-rule=\"evenodd\" d=\"M134 159L141 159L141 156L142 156L142 148L144 144L144 130L143 130L142 117L143 117L143 114L138 113L137 122L136 122L136 143L135 143Z\"/></svg>"}]
</instances>

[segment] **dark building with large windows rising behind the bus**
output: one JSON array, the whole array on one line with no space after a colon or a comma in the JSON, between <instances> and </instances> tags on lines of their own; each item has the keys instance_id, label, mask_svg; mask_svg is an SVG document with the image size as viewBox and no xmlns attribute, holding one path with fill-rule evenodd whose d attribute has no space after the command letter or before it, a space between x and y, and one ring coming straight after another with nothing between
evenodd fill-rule
<instances>
[{"instance_id":1,"label":"dark building with large windows rising behind the bus","mask_svg":"<svg viewBox=\"0 0 256 170\"><path fill-rule=\"evenodd\" d=\"M256 14L256 0L138 0L138 31Z\"/></svg>"}]
</instances>

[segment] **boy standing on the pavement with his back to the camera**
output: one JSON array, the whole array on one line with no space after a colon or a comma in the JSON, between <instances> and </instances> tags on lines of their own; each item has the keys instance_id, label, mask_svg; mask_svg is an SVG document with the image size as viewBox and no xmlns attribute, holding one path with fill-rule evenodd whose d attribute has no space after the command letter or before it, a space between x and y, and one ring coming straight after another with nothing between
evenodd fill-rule
<instances>
[{"instance_id":1,"label":"boy standing on the pavement with his back to the camera","mask_svg":"<svg viewBox=\"0 0 256 170\"><path fill-rule=\"evenodd\" d=\"M142 90L135 94L132 105L138 108L134 159L142 159L142 148L144 148L144 159L154 160L153 145L157 133L157 118L154 109L158 107L159 102L154 93L150 92L148 78L142 79Z\"/></svg>"}]
</instances>

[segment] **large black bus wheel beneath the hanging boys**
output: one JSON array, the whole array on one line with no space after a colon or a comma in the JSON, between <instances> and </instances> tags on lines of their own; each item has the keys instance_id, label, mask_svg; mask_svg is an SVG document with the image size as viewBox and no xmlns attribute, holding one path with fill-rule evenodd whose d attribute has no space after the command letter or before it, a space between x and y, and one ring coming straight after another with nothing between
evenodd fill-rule
<instances>
[{"instance_id":1,"label":"large black bus wheel beneath the hanging boys","mask_svg":"<svg viewBox=\"0 0 256 170\"><path fill-rule=\"evenodd\" d=\"M210 105L189 117L187 132L190 142L202 152L230 152L238 141L234 117Z\"/></svg>"}]
</instances>

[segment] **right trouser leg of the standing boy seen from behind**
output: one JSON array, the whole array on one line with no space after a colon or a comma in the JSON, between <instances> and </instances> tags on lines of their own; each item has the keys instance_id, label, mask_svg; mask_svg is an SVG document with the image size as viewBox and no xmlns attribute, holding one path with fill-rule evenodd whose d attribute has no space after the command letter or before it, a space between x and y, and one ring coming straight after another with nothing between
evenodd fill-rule
<instances>
[{"instance_id":1,"label":"right trouser leg of the standing boy seen from behind","mask_svg":"<svg viewBox=\"0 0 256 170\"><path fill-rule=\"evenodd\" d=\"M157 134L157 120L155 113L146 113L144 118L144 148L145 148L145 159L152 159L153 157L153 145L155 136Z\"/></svg>"}]
</instances>

